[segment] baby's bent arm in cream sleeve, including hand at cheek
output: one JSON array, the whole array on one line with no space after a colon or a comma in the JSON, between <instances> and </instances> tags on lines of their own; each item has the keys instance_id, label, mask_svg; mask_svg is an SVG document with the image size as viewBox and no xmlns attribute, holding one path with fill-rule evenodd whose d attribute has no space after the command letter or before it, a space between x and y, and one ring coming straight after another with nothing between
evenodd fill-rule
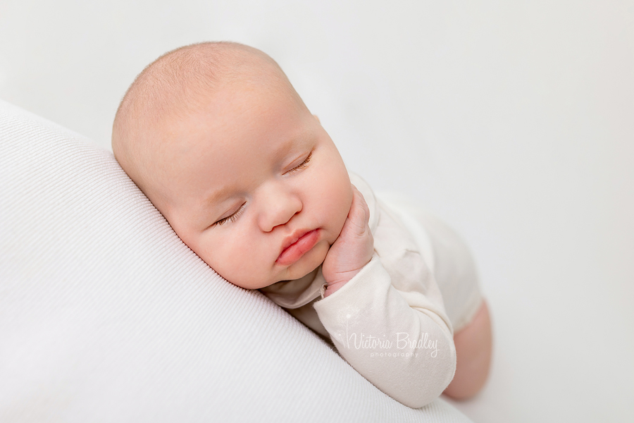
<instances>
[{"instance_id":1,"label":"baby's bent arm in cream sleeve, including hand at cheek","mask_svg":"<svg viewBox=\"0 0 634 423\"><path fill-rule=\"evenodd\" d=\"M424 289L394 288L372 255L367 205L354 192L348 220L323 263L324 299L314 307L352 367L392 398L422 407L440 396L454 375L452 330L442 305Z\"/></svg>"}]
</instances>

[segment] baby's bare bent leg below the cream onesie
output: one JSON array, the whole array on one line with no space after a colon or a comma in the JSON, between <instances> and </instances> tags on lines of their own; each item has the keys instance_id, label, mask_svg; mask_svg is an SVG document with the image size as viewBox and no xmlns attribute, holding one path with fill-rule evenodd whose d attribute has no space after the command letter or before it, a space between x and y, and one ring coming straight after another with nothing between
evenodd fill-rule
<instances>
[{"instance_id":1,"label":"baby's bare bent leg below the cream onesie","mask_svg":"<svg viewBox=\"0 0 634 423\"><path fill-rule=\"evenodd\" d=\"M466 400L484 386L491 364L491 320L485 301L473 319L454 334L454 343L456 374L445 394L456 400Z\"/></svg>"}]
</instances>

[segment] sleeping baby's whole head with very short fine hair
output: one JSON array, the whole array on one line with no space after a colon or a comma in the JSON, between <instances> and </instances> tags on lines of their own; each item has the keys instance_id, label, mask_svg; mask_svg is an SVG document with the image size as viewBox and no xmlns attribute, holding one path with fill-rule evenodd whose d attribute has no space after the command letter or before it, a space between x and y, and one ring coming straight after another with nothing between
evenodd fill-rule
<instances>
[{"instance_id":1,"label":"sleeping baby's whole head with very short fine hair","mask_svg":"<svg viewBox=\"0 0 634 423\"><path fill-rule=\"evenodd\" d=\"M242 44L151 63L119 106L112 147L180 238L243 288L316 269L352 204L328 133L278 64Z\"/></svg>"}]
</instances>

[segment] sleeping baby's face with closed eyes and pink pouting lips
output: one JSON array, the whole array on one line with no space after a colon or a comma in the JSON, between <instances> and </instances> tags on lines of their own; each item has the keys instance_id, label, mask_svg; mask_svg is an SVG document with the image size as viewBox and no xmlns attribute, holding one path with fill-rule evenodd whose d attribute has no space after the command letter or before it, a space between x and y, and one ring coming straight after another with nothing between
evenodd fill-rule
<instances>
[{"instance_id":1,"label":"sleeping baby's face with closed eyes and pink pouting lips","mask_svg":"<svg viewBox=\"0 0 634 423\"><path fill-rule=\"evenodd\" d=\"M177 142L161 152L169 195L159 209L218 274L256 289L323 262L347 218L352 185L303 104L283 90L225 88L161 133Z\"/></svg>"}]
</instances>

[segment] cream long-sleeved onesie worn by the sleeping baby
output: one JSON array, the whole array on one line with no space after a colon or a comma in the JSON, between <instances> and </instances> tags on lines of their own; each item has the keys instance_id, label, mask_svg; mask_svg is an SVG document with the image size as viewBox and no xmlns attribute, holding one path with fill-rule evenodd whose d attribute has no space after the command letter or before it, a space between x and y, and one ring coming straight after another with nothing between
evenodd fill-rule
<instances>
[{"instance_id":1,"label":"cream long-sleeved onesie worn by the sleeping baby","mask_svg":"<svg viewBox=\"0 0 634 423\"><path fill-rule=\"evenodd\" d=\"M394 198L388 206L359 176L350 179L370 209L371 261L327 298L321 266L261 292L330 340L381 391L423 407L454 376L452 326L464 327L482 301L473 260L433 216Z\"/></svg>"}]
</instances>

